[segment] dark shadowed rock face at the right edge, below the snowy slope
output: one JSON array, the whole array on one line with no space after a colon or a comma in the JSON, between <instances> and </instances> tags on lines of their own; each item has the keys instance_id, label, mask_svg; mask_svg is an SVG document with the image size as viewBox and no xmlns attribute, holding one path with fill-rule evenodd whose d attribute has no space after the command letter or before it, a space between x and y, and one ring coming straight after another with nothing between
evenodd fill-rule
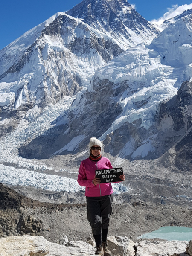
<instances>
[{"instance_id":1,"label":"dark shadowed rock face at the right edge, below the snowy slope","mask_svg":"<svg viewBox=\"0 0 192 256\"><path fill-rule=\"evenodd\" d=\"M192 82L183 82L177 95L160 106L155 119L159 133L157 151L167 151L166 164L174 163L183 171L192 170ZM169 149L174 153L170 154ZM174 162L169 160L170 155Z\"/></svg>"}]
</instances>

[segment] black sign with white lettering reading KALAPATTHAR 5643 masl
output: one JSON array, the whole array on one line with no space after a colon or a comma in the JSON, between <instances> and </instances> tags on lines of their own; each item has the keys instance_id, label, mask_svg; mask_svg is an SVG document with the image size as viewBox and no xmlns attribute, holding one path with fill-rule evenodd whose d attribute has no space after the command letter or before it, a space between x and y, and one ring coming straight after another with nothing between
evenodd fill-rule
<instances>
[{"instance_id":1,"label":"black sign with white lettering reading KALAPATTHAR 5643 masl","mask_svg":"<svg viewBox=\"0 0 192 256\"><path fill-rule=\"evenodd\" d=\"M119 178L119 176L122 174L123 174L122 167L95 171L95 177L101 180L100 183L122 181L122 179Z\"/></svg>"}]
</instances>

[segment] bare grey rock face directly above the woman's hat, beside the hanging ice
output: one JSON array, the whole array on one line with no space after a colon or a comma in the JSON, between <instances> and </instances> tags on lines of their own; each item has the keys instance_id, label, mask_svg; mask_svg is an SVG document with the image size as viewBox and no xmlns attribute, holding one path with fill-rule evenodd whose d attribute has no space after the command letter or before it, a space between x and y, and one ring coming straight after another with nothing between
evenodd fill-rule
<instances>
[{"instance_id":1,"label":"bare grey rock face directly above the woman's hat, beside the hanging ice","mask_svg":"<svg viewBox=\"0 0 192 256\"><path fill-rule=\"evenodd\" d=\"M81 135L82 131L88 137L100 137L122 112L122 107L113 99L116 90L113 89L112 82L107 79L98 81L96 77L93 81L93 90L92 92L87 90L82 95L79 102L81 114L75 116L73 111L70 112L68 137ZM81 102L86 103L83 106ZM87 145L87 140L82 141L80 145Z\"/></svg>"}]
</instances>

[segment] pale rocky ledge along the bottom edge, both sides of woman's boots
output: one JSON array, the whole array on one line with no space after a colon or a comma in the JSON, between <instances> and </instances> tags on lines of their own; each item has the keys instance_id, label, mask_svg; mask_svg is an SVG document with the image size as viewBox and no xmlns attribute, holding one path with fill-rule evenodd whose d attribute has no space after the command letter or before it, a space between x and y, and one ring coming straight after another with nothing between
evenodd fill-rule
<instances>
[{"instance_id":1,"label":"pale rocky ledge along the bottom edge, both sides of woman's boots","mask_svg":"<svg viewBox=\"0 0 192 256\"><path fill-rule=\"evenodd\" d=\"M137 244L127 237L108 237L108 247L115 256L183 256L192 241L142 240ZM188 249L187 249L188 250ZM191 251L190 249L188 251ZM47 241L42 236L10 236L0 239L0 256L93 256L95 248L88 242L70 241L65 245Z\"/></svg>"}]
</instances>

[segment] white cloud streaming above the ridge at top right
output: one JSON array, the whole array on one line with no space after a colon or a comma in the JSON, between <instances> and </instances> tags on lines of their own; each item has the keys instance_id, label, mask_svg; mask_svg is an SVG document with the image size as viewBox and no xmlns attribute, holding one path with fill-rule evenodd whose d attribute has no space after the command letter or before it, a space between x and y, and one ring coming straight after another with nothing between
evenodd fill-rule
<instances>
[{"instance_id":1,"label":"white cloud streaming above the ridge at top right","mask_svg":"<svg viewBox=\"0 0 192 256\"><path fill-rule=\"evenodd\" d=\"M157 20L151 20L151 22L157 24L157 25L161 25L163 24L163 21L168 20L170 18L173 18L177 15L180 15L181 13L183 13L184 11L188 10L188 9L192 9L192 3L190 4L183 4L181 6L176 5L172 5L171 8L167 8L168 12L166 12L163 17L160 17Z\"/></svg>"}]
</instances>

